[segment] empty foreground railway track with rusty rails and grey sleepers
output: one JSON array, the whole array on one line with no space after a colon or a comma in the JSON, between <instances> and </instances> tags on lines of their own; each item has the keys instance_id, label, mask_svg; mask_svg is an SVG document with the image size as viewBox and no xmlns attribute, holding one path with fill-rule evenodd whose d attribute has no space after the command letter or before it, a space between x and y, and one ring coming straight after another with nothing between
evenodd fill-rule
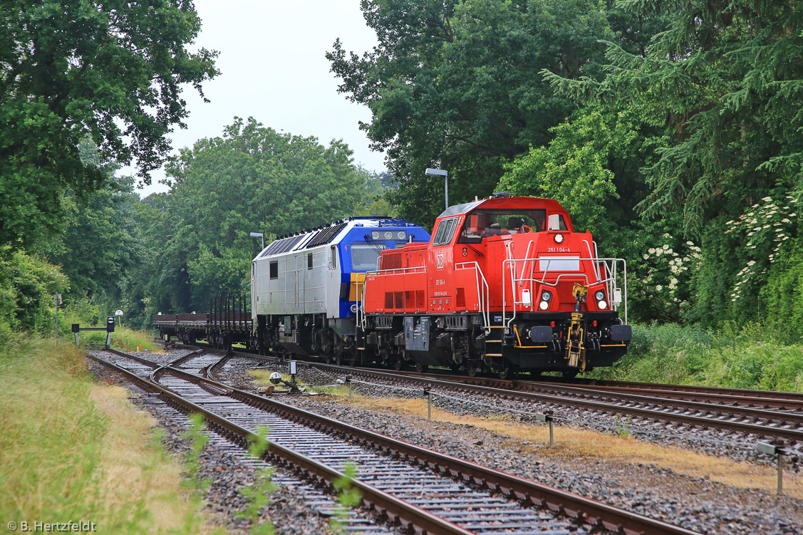
<instances>
[{"instance_id":1,"label":"empty foreground railway track with rusty rails and grey sleepers","mask_svg":"<svg viewBox=\"0 0 803 535\"><path fill-rule=\"evenodd\" d=\"M165 365L114 354L92 357L234 443L271 428L267 460L308 479L332 484L357 461L364 503L408 532L694 533L202 377L226 357L198 351Z\"/></svg>"}]
</instances>

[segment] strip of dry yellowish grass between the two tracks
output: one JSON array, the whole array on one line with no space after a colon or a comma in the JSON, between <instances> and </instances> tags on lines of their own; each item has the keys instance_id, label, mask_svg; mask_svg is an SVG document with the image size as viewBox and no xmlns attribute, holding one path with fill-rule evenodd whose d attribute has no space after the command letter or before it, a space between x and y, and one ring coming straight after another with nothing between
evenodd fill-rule
<instances>
[{"instance_id":1,"label":"strip of dry yellowish grass between the two tracks","mask_svg":"<svg viewBox=\"0 0 803 535\"><path fill-rule=\"evenodd\" d=\"M349 403L348 399L340 402ZM351 406L367 410L390 411L426 419L426 400L407 398L366 398L354 394ZM435 422L467 424L510 438L511 447L537 455L569 460L603 460L622 464L654 464L693 477L706 477L739 488L762 488L775 492L777 472L774 467L738 463L714 455L705 455L679 447L663 447L628 437L586 431L574 427L556 426L555 447L548 447L549 431L545 424L514 422L503 416L480 418L454 415L432 407ZM531 444L522 446L528 440ZM784 491L789 496L803 498L803 476L786 472Z\"/></svg>"}]
</instances>

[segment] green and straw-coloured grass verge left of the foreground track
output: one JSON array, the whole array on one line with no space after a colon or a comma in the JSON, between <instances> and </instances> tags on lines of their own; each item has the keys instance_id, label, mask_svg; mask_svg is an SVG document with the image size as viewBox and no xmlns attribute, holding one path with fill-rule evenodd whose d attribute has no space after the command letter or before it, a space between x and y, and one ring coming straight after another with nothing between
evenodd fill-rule
<instances>
[{"instance_id":1,"label":"green and straw-coloured grass verge left of the foreground track","mask_svg":"<svg viewBox=\"0 0 803 535\"><path fill-rule=\"evenodd\" d=\"M119 386L92 382L74 345L0 345L0 517L92 521L96 533L210 533L181 490L154 421Z\"/></svg>"}]
</instances>

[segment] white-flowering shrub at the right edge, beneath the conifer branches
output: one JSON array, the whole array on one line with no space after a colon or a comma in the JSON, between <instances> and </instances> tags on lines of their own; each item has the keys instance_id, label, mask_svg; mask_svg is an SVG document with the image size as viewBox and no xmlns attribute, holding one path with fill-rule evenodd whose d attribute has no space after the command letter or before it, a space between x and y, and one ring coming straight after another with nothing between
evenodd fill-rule
<instances>
[{"instance_id":1,"label":"white-flowering shrub at the right edge, beneath the conifer branches","mask_svg":"<svg viewBox=\"0 0 803 535\"><path fill-rule=\"evenodd\" d=\"M793 235L797 224L794 204L797 199L786 195L784 201L764 197L750 207L747 214L725 223L725 234L733 235L744 243L744 266L736 273L731 300L740 300L764 276L776 261L787 240Z\"/></svg>"}]
</instances>

